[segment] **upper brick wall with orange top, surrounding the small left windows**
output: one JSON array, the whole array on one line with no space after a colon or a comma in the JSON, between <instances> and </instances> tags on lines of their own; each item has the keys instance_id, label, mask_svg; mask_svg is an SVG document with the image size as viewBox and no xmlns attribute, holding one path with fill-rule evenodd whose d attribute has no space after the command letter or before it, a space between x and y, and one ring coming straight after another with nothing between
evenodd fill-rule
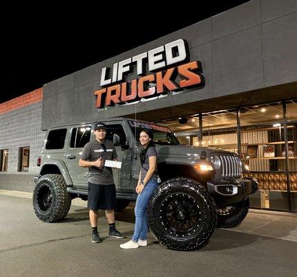
<instances>
[{"instance_id":1,"label":"upper brick wall with orange top, surrounding the small left windows","mask_svg":"<svg viewBox=\"0 0 297 277\"><path fill-rule=\"evenodd\" d=\"M0 104L0 150L8 149L8 172L17 172L19 148L30 146L29 172L38 172L37 157L44 145L41 131L43 89ZM1 172L0 172L1 174Z\"/></svg>"}]
</instances>

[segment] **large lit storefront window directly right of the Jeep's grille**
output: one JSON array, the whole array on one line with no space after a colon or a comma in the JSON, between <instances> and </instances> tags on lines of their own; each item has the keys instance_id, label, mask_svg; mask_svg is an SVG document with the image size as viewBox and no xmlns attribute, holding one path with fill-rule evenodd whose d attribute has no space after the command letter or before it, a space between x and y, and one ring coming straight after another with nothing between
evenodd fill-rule
<instances>
[{"instance_id":1,"label":"large lit storefront window directly right of the Jeep's grille","mask_svg":"<svg viewBox=\"0 0 297 277\"><path fill-rule=\"evenodd\" d=\"M287 210L287 168L282 102L240 109L241 156L258 179L252 206ZM288 127L288 130L291 127ZM255 198L256 197L256 198ZM255 198L255 199L253 199Z\"/></svg>"}]
</instances>

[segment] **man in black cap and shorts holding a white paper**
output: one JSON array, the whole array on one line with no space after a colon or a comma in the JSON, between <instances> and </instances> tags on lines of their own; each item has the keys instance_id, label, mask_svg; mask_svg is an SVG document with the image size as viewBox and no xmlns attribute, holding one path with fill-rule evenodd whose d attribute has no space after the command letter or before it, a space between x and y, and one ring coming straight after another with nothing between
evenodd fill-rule
<instances>
[{"instance_id":1,"label":"man in black cap and shorts holding a white paper","mask_svg":"<svg viewBox=\"0 0 297 277\"><path fill-rule=\"evenodd\" d=\"M125 238L122 233L115 229L115 184L113 182L113 171L105 167L106 160L117 161L117 152L111 141L105 140L106 125L95 123L95 141L90 141L84 146L79 159L79 166L89 168L88 177L88 208L90 225L92 227L92 242L102 242L99 237L98 210L105 210L109 224L108 235L113 238Z\"/></svg>"}]
</instances>

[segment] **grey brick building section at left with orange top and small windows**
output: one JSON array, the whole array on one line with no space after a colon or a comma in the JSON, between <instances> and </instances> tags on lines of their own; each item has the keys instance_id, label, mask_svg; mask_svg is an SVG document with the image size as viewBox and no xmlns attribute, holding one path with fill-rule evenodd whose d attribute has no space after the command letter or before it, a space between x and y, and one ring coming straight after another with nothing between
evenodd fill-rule
<instances>
[{"instance_id":1,"label":"grey brick building section at left with orange top and small windows","mask_svg":"<svg viewBox=\"0 0 297 277\"><path fill-rule=\"evenodd\" d=\"M43 89L0 104L0 188L32 191L41 131Z\"/></svg>"}]
</instances>

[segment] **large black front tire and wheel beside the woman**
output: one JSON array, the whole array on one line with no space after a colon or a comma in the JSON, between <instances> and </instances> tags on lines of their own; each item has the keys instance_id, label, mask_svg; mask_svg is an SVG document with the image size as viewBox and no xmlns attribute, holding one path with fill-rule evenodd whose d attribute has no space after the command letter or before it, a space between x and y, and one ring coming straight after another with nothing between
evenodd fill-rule
<instances>
[{"instance_id":1,"label":"large black front tire and wheel beside the woman","mask_svg":"<svg viewBox=\"0 0 297 277\"><path fill-rule=\"evenodd\" d=\"M155 190L148 204L149 228L169 249L200 249L213 234L216 223L213 198L192 179L165 181Z\"/></svg>"}]
</instances>

